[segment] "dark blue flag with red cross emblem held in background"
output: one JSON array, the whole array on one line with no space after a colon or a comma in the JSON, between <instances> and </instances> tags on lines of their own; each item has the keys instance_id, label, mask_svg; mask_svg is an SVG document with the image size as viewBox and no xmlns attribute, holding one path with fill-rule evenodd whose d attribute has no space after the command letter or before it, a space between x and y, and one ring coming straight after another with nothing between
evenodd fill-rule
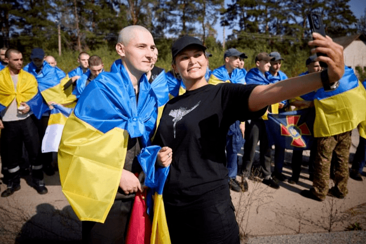
<instances>
[{"instance_id":1,"label":"dark blue flag with red cross emblem held in background","mask_svg":"<svg viewBox=\"0 0 366 244\"><path fill-rule=\"evenodd\" d=\"M292 150L310 149L314 141L314 120L314 108L268 114L268 120L264 122L270 145L276 144Z\"/></svg>"}]
</instances>

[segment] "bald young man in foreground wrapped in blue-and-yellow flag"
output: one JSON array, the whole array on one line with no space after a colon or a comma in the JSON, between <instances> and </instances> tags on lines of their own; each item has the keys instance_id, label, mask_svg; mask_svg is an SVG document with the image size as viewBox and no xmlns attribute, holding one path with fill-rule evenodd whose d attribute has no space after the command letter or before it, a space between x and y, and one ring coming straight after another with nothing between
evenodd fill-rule
<instances>
[{"instance_id":1,"label":"bald young man in foreground wrapped in blue-and-yellow flag","mask_svg":"<svg viewBox=\"0 0 366 244\"><path fill-rule=\"evenodd\" d=\"M116 45L121 59L85 87L63 129L62 191L82 221L83 243L124 243L142 190L136 156L150 145L157 120L158 99L146 78L155 48L144 27L123 28Z\"/></svg>"}]
</instances>

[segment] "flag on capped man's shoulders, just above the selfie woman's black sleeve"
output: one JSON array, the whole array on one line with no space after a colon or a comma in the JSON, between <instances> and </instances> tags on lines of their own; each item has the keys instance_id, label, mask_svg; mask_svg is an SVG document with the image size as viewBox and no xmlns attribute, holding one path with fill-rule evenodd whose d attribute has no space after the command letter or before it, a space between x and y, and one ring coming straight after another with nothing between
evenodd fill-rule
<instances>
[{"instance_id":1,"label":"flag on capped man's shoulders, just above the selfie woman's black sleeve","mask_svg":"<svg viewBox=\"0 0 366 244\"><path fill-rule=\"evenodd\" d=\"M229 73L227 72L225 65L223 65L212 71L209 79L210 84L215 85L221 82L245 84L245 74L241 69L234 69L231 72L231 76L229 76Z\"/></svg>"}]
</instances>

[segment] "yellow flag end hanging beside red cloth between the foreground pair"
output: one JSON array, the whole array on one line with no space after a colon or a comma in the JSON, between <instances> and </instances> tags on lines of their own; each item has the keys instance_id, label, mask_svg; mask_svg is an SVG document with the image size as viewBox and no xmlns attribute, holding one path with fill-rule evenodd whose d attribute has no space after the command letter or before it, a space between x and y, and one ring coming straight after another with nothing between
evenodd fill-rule
<instances>
[{"instance_id":1,"label":"yellow flag end hanging beside red cloth between the foreground pair","mask_svg":"<svg viewBox=\"0 0 366 244\"><path fill-rule=\"evenodd\" d=\"M166 224L163 195L155 192L154 219L151 231L151 244L170 244L168 225Z\"/></svg>"}]
</instances>

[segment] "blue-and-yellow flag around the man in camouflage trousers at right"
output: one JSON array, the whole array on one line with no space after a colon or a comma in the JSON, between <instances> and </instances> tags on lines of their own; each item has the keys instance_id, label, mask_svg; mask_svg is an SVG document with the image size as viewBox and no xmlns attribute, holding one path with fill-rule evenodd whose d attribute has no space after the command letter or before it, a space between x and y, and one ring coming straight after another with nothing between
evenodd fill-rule
<instances>
[{"instance_id":1,"label":"blue-and-yellow flag around the man in camouflage trousers at right","mask_svg":"<svg viewBox=\"0 0 366 244\"><path fill-rule=\"evenodd\" d=\"M301 97L308 101L314 100L314 137L345 133L366 120L365 86L358 81L351 68L345 67L345 73L335 90L320 88Z\"/></svg>"}]
</instances>

